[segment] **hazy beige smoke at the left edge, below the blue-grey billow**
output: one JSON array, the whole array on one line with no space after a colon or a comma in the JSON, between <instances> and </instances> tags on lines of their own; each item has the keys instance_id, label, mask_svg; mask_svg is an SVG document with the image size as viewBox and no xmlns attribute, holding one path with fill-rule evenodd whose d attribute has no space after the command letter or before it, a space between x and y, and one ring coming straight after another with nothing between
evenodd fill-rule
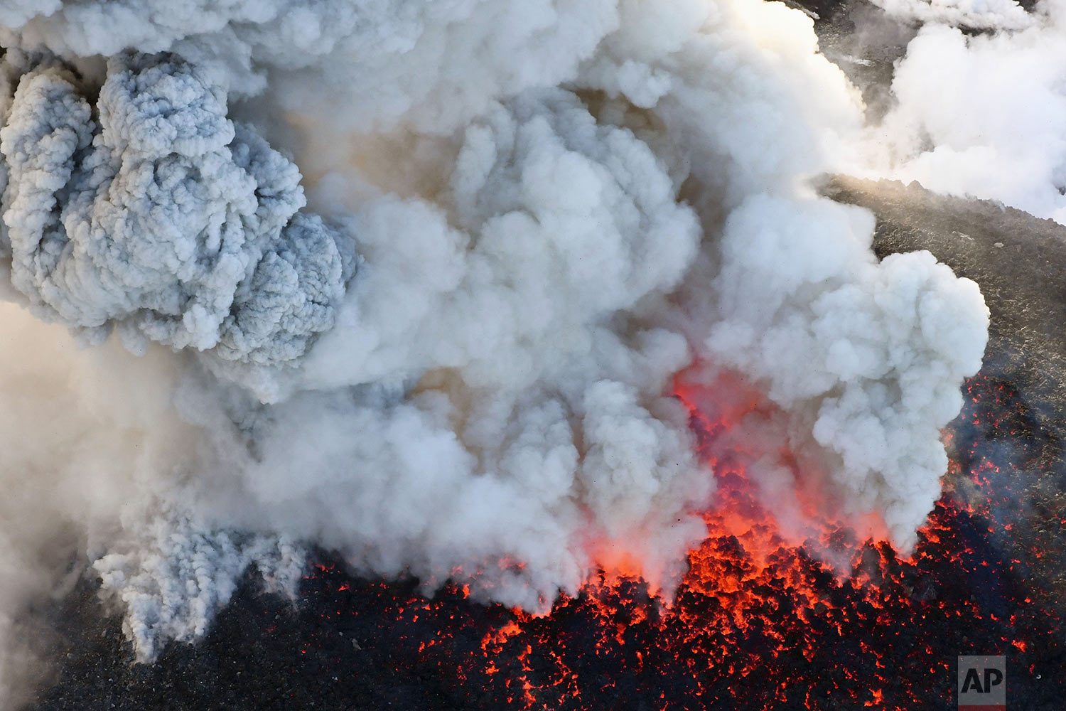
<instances>
[{"instance_id":1,"label":"hazy beige smoke at the left edge, below the blue-grey billow","mask_svg":"<svg viewBox=\"0 0 1066 711\"><path fill-rule=\"evenodd\" d=\"M149 349L134 357L114 342L82 351L55 325L0 304L0 619L22 623L27 607L116 540L124 517L150 520L201 439L178 417L172 391L183 357ZM0 692L21 670L0 646Z\"/></svg>"}]
</instances>

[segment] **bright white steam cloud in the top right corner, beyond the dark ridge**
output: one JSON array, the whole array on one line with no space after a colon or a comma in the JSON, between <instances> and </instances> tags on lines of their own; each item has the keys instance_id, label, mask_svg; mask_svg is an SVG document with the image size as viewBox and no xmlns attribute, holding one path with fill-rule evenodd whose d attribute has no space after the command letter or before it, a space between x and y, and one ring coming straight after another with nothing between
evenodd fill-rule
<instances>
[{"instance_id":1,"label":"bright white steam cloud in the top right corner, beyond the dark ridge","mask_svg":"<svg viewBox=\"0 0 1066 711\"><path fill-rule=\"evenodd\" d=\"M888 141L874 172L1066 224L1066 3L1043 0L1023 25L1013 17L991 15L997 31L973 36L922 28L875 129Z\"/></svg>"}]
</instances>

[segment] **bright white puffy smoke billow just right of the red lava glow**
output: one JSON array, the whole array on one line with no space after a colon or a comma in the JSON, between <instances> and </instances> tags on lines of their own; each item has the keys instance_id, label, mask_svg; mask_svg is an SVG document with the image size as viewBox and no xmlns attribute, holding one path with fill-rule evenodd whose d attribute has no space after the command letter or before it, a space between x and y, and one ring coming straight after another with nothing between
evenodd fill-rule
<instances>
[{"instance_id":1,"label":"bright white puffy smoke billow just right of the red lava glow","mask_svg":"<svg viewBox=\"0 0 1066 711\"><path fill-rule=\"evenodd\" d=\"M723 320L707 348L806 421L843 513L879 512L907 548L948 467L922 433L962 407L988 317L976 285L928 253L878 264L872 231L868 212L829 200L746 201L722 238Z\"/></svg>"}]
</instances>

